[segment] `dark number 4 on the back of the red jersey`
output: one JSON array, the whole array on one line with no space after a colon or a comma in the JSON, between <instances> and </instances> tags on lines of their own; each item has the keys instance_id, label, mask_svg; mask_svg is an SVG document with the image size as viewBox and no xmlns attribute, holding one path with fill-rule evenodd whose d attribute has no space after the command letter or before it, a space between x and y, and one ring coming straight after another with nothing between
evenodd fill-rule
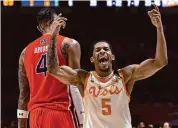
<instances>
[{"instance_id":1,"label":"dark number 4 on the back of the red jersey","mask_svg":"<svg viewBox=\"0 0 178 128\"><path fill-rule=\"evenodd\" d=\"M37 74L41 74L44 73L44 76L46 76L46 72L47 72L47 64L46 64L46 54L43 54L40 58L40 60L38 61L38 64L36 66L36 73Z\"/></svg>"}]
</instances>

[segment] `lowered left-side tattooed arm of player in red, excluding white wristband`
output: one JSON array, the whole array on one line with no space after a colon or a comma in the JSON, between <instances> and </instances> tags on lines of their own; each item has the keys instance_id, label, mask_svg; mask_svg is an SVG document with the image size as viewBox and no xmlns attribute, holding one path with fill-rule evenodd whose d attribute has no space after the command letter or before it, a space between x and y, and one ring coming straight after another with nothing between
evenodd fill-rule
<instances>
[{"instance_id":1,"label":"lowered left-side tattooed arm of player in red, excluding white wristband","mask_svg":"<svg viewBox=\"0 0 178 128\"><path fill-rule=\"evenodd\" d=\"M27 111L27 104L30 97L30 88L28 79L25 72L23 57L25 50L22 51L19 58L19 70L18 70L18 79L19 79L19 100L18 100L18 109ZM18 118L18 127L27 128L27 118Z\"/></svg>"}]
</instances>

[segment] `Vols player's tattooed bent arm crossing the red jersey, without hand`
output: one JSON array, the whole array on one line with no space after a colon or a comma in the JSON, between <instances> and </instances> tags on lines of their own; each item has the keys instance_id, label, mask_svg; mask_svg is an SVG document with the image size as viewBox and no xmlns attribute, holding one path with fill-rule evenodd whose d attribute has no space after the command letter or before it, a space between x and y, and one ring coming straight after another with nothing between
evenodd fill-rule
<instances>
[{"instance_id":1,"label":"Vols player's tattooed bent arm crossing the red jersey, without hand","mask_svg":"<svg viewBox=\"0 0 178 128\"><path fill-rule=\"evenodd\" d=\"M73 70L72 68L68 66L59 66L58 65L58 59L57 59L57 50L56 50L56 35L58 33L60 25L56 25L56 29L54 30L52 36L51 36L51 42L48 48L47 53L47 67L48 72L63 82L64 84L70 85L70 84L78 84L83 83L83 74L85 72L83 70Z\"/></svg>"}]
</instances>

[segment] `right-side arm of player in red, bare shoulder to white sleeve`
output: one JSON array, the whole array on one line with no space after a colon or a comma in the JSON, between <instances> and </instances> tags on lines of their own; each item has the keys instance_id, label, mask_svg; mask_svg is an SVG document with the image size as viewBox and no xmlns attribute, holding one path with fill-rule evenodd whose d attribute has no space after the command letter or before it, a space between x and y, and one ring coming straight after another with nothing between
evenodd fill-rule
<instances>
[{"instance_id":1,"label":"right-side arm of player in red, bare shoulder to white sleeve","mask_svg":"<svg viewBox=\"0 0 178 128\"><path fill-rule=\"evenodd\" d=\"M61 47L61 51L66 60L68 60L68 66L71 67L72 69L78 69L76 71L78 72L79 75L80 72L82 71L81 69L79 69L81 57L80 44L74 39L65 38ZM70 85L70 94L74 108L77 113L79 125L81 128L83 128L84 115L81 113L84 111L81 97L84 96L83 84L78 84L77 87L76 85Z\"/></svg>"}]
</instances>

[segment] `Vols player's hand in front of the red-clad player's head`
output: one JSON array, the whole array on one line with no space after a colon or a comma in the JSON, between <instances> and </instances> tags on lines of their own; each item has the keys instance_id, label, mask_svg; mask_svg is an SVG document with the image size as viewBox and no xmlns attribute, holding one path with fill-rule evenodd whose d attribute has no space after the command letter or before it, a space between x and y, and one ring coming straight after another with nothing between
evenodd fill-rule
<instances>
[{"instance_id":1,"label":"Vols player's hand in front of the red-clad player's head","mask_svg":"<svg viewBox=\"0 0 178 128\"><path fill-rule=\"evenodd\" d=\"M52 36L56 36L59 33L61 27L63 29L66 27L67 18L61 16L62 14L60 13L51 24Z\"/></svg>"}]
</instances>

